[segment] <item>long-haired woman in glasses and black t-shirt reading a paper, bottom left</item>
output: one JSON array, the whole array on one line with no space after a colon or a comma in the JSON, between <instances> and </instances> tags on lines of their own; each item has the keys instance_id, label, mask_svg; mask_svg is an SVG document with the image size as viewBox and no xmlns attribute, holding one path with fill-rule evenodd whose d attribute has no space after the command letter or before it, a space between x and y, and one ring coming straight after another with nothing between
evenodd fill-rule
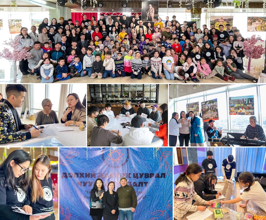
<instances>
[{"instance_id":1,"label":"long-haired woman in glasses and black t-shirt reading a paper, bottom left","mask_svg":"<svg viewBox=\"0 0 266 220\"><path fill-rule=\"evenodd\" d=\"M23 149L14 150L0 166L0 219L1 220L38 220L50 215L24 215L15 207L32 213L27 204L26 190L29 186L28 170L31 156Z\"/></svg>"}]
</instances>

